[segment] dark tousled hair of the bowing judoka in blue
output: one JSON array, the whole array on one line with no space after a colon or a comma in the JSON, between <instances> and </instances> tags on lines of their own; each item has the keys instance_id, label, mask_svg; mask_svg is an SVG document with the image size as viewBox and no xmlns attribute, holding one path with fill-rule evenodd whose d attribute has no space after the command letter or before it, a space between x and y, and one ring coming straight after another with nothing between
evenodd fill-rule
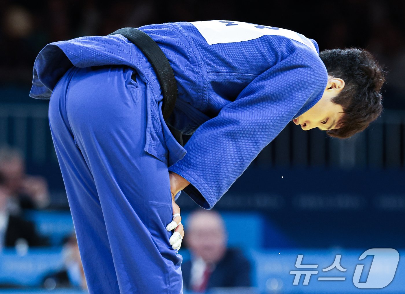
<instances>
[{"instance_id":1,"label":"dark tousled hair of the bowing judoka in blue","mask_svg":"<svg viewBox=\"0 0 405 294\"><path fill-rule=\"evenodd\" d=\"M385 71L365 49L324 50L319 56L329 76L345 81L345 87L332 99L343 107L345 114L339 120L339 128L326 133L336 138L349 138L366 129L381 115Z\"/></svg>"}]
</instances>

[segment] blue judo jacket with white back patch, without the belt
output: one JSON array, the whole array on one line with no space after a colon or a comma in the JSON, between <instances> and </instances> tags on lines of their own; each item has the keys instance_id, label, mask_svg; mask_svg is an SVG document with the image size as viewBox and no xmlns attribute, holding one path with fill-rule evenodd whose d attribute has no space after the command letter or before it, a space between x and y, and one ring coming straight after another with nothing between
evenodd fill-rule
<instances>
[{"instance_id":1,"label":"blue judo jacket with white back patch, without the belt","mask_svg":"<svg viewBox=\"0 0 405 294\"><path fill-rule=\"evenodd\" d=\"M71 66L136 69L148 85L145 151L187 179L183 191L206 209L292 119L320 100L326 87L318 44L291 30L223 20L139 29L156 41L173 68L178 96L168 122L192 134L184 147L168 134L151 65L122 35L48 44L35 60L30 96L49 99Z\"/></svg>"}]
</instances>

